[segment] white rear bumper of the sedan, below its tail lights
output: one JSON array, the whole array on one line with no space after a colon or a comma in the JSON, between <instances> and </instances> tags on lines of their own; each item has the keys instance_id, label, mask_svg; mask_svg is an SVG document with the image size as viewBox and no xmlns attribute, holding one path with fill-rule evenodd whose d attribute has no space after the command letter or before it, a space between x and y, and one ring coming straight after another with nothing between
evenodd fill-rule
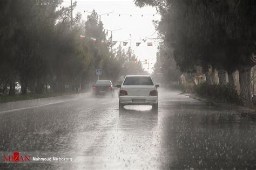
<instances>
[{"instance_id":1,"label":"white rear bumper of the sedan, below its tail lights","mask_svg":"<svg viewBox=\"0 0 256 170\"><path fill-rule=\"evenodd\" d=\"M145 102L133 102L133 100L144 100ZM119 102L125 105L149 105L158 103L158 96L119 96Z\"/></svg>"}]
</instances>

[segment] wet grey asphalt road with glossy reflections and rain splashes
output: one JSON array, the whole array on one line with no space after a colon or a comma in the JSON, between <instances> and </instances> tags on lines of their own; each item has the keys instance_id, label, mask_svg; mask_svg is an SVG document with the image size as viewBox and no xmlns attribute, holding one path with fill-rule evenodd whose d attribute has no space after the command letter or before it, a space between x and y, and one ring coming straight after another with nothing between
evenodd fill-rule
<instances>
[{"instance_id":1,"label":"wet grey asphalt road with glossy reflections and rain splashes","mask_svg":"<svg viewBox=\"0 0 256 170\"><path fill-rule=\"evenodd\" d=\"M91 98L0 114L0 151L65 153L72 162L0 169L255 169L256 122L159 90L150 106L119 112L118 98ZM61 155L60 155L61 156Z\"/></svg>"}]
</instances>

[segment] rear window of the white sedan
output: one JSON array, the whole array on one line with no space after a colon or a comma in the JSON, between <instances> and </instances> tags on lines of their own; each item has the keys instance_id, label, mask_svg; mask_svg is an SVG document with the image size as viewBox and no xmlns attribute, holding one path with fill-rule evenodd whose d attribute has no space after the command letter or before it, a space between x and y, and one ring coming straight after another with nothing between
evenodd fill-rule
<instances>
[{"instance_id":1,"label":"rear window of the white sedan","mask_svg":"<svg viewBox=\"0 0 256 170\"><path fill-rule=\"evenodd\" d=\"M153 83L151 77L134 76L134 77L126 77L123 85L150 85L150 86L153 86L154 83Z\"/></svg>"}]
</instances>

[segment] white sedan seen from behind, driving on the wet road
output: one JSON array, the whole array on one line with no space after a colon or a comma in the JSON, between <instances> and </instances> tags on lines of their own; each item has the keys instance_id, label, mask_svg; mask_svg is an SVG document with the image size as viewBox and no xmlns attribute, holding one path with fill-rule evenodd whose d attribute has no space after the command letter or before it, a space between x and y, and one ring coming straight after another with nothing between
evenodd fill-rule
<instances>
[{"instance_id":1,"label":"white sedan seen from behind, driving on the wet road","mask_svg":"<svg viewBox=\"0 0 256 170\"><path fill-rule=\"evenodd\" d=\"M119 109L124 105L152 105L153 110L158 109L159 85L154 84L149 75L127 75L118 92Z\"/></svg>"}]
</instances>

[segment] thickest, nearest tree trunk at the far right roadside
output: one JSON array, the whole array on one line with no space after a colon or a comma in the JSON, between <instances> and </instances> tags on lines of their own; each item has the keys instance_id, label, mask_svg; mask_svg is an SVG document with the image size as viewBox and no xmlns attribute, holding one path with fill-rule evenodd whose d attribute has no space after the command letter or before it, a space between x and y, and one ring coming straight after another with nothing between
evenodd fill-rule
<instances>
[{"instance_id":1,"label":"thickest, nearest tree trunk at the far right roadside","mask_svg":"<svg viewBox=\"0 0 256 170\"><path fill-rule=\"evenodd\" d=\"M240 95L244 99L244 105L246 107L252 107L252 93L251 93L251 67L242 67L239 69L239 84L240 84Z\"/></svg>"}]
</instances>

